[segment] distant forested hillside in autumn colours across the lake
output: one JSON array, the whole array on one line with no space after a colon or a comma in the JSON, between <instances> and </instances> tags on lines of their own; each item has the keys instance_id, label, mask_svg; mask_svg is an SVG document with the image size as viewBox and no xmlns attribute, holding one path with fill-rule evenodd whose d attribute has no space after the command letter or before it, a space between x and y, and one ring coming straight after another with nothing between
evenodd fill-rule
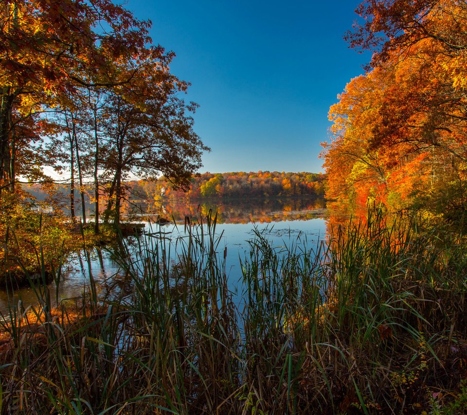
<instances>
[{"instance_id":1,"label":"distant forested hillside in autumn colours across the lake","mask_svg":"<svg viewBox=\"0 0 467 415\"><path fill-rule=\"evenodd\" d=\"M326 175L323 173L233 172L201 173L191 177L185 190L178 189L165 176L152 180L129 180L121 183L120 214L128 215L138 207L138 212L154 213L162 205L196 204L203 201L245 201L290 198L323 198ZM95 217L93 183L84 183L85 212ZM70 185L31 184L23 186L25 195L37 208L61 210L66 216L82 215L81 195L70 209ZM110 187L100 190L100 212L106 213ZM75 190L76 193L76 190ZM146 208L143 208L143 205ZM179 209L180 210L180 209ZM86 215L85 215L86 216Z\"/></svg>"}]
</instances>

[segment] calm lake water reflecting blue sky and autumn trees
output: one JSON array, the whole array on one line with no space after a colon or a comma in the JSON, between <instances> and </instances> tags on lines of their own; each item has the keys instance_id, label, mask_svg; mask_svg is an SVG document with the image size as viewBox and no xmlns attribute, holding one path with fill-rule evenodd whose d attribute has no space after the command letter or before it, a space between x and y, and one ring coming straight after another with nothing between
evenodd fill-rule
<instances>
[{"instance_id":1,"label":"calm lake water reflecting blue sky and autumn trees","mask_svg":"<svg viewBox=\"0 0 467 415\"><path fill-rule=\"evenodd\" d=\"M218 252L227 248L226 269L229 284L234 290L241 278L239 258L244 258L250 246L248 241L254 239L255 232L261 232L273 246L298 249L315 248L325 239L325 201L323 199L268 200L241 203L211 203L202 205L169 205L164 207L165 215L175 219L175 224L154 225L146 222L145 233L163 232L172 246L171 259L176 259L175 242L186 236L183 218L185 216L202 217L209 211L218 212L216 236L220 238ZM141 218L143 219L143 218ZM153 217L154 219L154 217ZM148 238L142 235L140 238ZM134 237L128 243L136 244ZM109 287L121 279L121 270L112 260L110 248L92 250L74 255L62 269L62 276L57 284L48 286L51 301L76 300L83 292L89 291L90 275L98 282L100 294L108 292ZM118 285L117 285L118 287ZM115 289L115 287L113 288ZM117 288L118 289L118 288ZM15 293L0 291L0 312L7 317L12 305L26 308L36 304L33 288L23 288Z\"/></svg>"}]
</instances>

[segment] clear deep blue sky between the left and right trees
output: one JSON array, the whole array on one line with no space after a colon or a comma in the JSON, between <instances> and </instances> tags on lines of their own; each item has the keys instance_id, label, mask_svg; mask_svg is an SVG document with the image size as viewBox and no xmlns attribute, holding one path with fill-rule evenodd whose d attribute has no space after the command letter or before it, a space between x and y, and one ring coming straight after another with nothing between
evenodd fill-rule
<instances>
[{"instance_id":1,"label":"clear deep blue sky between the left and right trees","mask_svg":"<svg viewBox=\"0 0 467 415\"><path fill-rule=\"evenodd\" d=\"M370 55L342 39L356 0L129 0L155 44L177 57L212 148L200 172L321 171L329 106Z\"/></svg>"}]
</instances>

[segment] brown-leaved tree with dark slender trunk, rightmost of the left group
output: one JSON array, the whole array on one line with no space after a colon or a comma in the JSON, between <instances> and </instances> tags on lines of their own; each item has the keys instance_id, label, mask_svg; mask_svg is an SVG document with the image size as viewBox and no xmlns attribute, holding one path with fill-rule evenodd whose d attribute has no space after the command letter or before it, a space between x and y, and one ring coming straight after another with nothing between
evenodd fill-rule
<instances>
[{"instance_id":1,"label":"brown-leaved tree with dark slender trunk, rightmost of the left group","mask_svg":"<svg viewBox=\"0 0 467 415\"><path fill-rule=\"evenodd\" d=\"M193 130L190 113L178 94L188 84L169 72L173 53L161 47L138 52L121 71L133 76L131 85L106 90L102 120L104 176L110 178L105 219L113 212L120 221L124 181L131 175L155 178L164 174L176 188L186 189L201 166L201 152L209 150Z\"/></svg>"}]
</instances>

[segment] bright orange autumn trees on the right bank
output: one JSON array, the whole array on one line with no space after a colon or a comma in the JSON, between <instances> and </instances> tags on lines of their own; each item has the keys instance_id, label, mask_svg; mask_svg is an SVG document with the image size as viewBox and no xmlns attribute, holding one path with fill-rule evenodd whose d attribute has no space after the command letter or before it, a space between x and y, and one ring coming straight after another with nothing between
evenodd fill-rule
<instances>
[{"instance_id":1,"label":"bright orange autumn trees on the right bank","mask_svg":"<svg viewBox=\"0 0 467 415\"><path fill-rule=\"evenodd\" d=\"M467 4L363 3L351 47L374 52L329 111L326 196L461 220L467 211ZM403 16L403 18L402 18ZM363 210L364 212L366 209Z\"/></svg>"}]
</instances>

